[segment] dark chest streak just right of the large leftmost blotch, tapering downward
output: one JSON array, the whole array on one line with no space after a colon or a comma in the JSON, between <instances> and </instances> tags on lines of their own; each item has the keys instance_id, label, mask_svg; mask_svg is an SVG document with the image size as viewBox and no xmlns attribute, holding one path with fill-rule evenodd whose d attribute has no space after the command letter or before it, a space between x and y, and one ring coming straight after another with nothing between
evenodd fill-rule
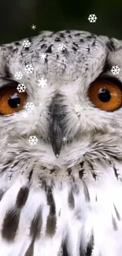
<instances>
[{"instance_id":1,"label":"dark chest streak just right of the large leftmost blotch, tapering downward","mask_svg":"<svg viewBox=\"0 0 122 256\"><path fill-rule=\"evenodd\" d=\"M30 236L32 236L33 240L39 238L42 224L43 224L42 208L39 207L39 210L37 211L37 213L35 213L35 217L31 221Z\"/></svg>"}]
</instances>

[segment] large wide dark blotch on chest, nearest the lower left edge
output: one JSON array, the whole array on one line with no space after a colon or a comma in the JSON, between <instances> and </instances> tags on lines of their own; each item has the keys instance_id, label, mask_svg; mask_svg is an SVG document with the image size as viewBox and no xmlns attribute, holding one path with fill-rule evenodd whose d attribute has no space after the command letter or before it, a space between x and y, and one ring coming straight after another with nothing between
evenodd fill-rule
<instances>
[{"instance_id":1,"label":"large wide dark blotch on chest, nearest the lower left edge","mask_svg":"<svg viewBox=\"0 0 122 256\"><path fill-rule=\"evenodd\" d=\"M12 241L17 233L20 221L20 210L16 207L6 213L2 226L2 237L8 241Z\"/></svg>"}]
</instances>

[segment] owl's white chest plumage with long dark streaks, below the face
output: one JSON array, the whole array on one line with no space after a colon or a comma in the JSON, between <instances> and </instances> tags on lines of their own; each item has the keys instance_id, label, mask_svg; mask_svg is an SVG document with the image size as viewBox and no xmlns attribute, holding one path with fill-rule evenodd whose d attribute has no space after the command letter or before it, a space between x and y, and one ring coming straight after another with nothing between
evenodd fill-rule
<instances>
[{"instance_id":1,"label":"owl's white chest plumage with long dark streaks, below the face","mask_svg":"<svg viewBox=\"0 0 122 256\"><path fill-rule=\"evenodd\" d=\"M117 163L97 169L82 161L17 174L1 190L2 256L120 256L119 172Z\"/></svg>"}]
</instances>

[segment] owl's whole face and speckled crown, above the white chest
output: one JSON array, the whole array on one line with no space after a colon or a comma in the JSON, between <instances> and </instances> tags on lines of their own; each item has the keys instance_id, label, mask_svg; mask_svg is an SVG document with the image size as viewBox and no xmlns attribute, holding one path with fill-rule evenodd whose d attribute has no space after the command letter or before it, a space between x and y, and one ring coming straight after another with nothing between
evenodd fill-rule
<instances>
[{"instance_id":1,"label":"owl's whole face and speckled crown, above the white chest","mask_svg":"<svg viewBox=\"0 0 122 256\"><path fill-rule=\"evenodd\" d=\"M29 47L25 40L0 50L2 161L62 166L84 154L120 157L122 72L111 70L121 69L121 42L79 31L43 32Z\"/></svg>"}]
</instances>

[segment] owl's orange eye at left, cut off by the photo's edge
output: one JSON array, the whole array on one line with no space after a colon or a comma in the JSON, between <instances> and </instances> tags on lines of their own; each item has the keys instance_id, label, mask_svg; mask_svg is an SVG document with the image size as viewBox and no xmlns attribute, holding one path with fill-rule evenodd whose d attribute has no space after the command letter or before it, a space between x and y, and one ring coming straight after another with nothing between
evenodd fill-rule
<instances>
[{"instance_id":1,"label":"owl's orange eye at left, cut off by the photo's edge","mask_svg":"<svg viewBox=\"0 0 122 256\"><path fill-rule=\"evenodd\" d=\"M19 93L14 85L3 87L0 91L0 113L3 115L13 114L24 107L27 94Z\"/></svg>"}]
</instances>

